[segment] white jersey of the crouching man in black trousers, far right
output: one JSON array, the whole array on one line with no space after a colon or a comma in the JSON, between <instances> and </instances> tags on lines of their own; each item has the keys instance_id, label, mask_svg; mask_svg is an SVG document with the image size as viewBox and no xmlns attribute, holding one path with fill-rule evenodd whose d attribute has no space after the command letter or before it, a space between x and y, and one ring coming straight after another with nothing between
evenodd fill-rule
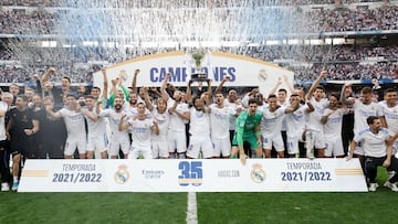
<instances>
[{"instance_id":1,"label":"white jersey of the crouching man in black trousers, far right","mask_svg":"<svg viewBox=\"0 0 398 224\"><path fill-rule=\"evenodd\" d=\"M362 142L366 157L385 157L387 154L386 140L391 136L388 129L380 128L378 134L371 132L370 128L355 134L354 141Z\"/></svg>"}]
</instances>

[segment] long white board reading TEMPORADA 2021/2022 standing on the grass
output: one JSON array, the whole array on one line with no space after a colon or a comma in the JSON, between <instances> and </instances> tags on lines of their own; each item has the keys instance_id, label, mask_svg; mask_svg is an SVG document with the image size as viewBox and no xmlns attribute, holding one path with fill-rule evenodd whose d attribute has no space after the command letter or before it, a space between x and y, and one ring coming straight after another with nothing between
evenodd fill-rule
<instances>
[{"instance_id":1,"label":"long white board reading TEMPORADA 2021/2022 standing on the grass","mask_svg":"<svg viewBox=\"0 0 398 224\"><path fill-rule=\"evenodd\" d=\"M367 191L357 159L27 160L19 192Z\"/></svg>"}]
</instances>

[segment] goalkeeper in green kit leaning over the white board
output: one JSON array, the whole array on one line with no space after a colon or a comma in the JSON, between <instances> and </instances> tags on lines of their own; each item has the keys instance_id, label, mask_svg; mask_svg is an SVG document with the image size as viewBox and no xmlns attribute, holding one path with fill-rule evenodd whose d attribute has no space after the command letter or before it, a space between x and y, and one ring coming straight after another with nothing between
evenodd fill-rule
<instances>
[{"instance_id":1,"label":"goalkeeper in green kit leaning over the white board","mask_svg":"<svg viewBox=\"0 0 398 224\"><path fill-rule=\"evenodd\" d=\"M244 141L248 141L250 147L255 150L258 158L262 158L260 132L262 114L258 111L258 102L255 98L250 98L248 105L248 110L242 111L238 117L231 152L231 158L237 158L239 152L240 160L243 164L245 164L247 159L243 149Z\"/></svg>"}]
</instances>

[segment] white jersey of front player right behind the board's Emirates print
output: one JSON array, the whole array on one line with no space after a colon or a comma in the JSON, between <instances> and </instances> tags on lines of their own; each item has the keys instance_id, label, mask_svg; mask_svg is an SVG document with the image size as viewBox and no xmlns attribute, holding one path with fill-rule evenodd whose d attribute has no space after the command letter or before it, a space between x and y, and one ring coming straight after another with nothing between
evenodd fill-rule
<instances>
[{"instance_id":1,"label":"white jersey of front player right behind the board's Emirates print","mask_svg":"<svg viewBox=\"0 0 398 224\"><path fill-rule=\"evenodd\" d=\"M150 139L151 139L151 127L154 120L146 118L140 119L129 119L128 124L130 125L129 131L132 132L132 147L138 149L150 149Z\"/></svg>"}]
</instances>

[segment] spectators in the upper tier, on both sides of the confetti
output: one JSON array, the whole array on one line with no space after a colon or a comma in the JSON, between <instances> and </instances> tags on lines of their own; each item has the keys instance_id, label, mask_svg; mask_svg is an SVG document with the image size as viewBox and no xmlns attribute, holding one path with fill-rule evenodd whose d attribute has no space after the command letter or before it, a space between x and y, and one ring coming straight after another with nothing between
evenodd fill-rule
<instances>
[{"instance_id":1,"label":"spectators in the upper tier, on both sides of the confetti","mask_svg":"<svg viewBox=\"0 0 398 224\"><path fill-rule=\"evenodd\" d=\"M310 10L306 17L313 32L398 30L398 7ZM2 34L50 34L54 33L57 12L45 10L3 10L0 12L0 30Z\"/></svg>"}]
</instances>

